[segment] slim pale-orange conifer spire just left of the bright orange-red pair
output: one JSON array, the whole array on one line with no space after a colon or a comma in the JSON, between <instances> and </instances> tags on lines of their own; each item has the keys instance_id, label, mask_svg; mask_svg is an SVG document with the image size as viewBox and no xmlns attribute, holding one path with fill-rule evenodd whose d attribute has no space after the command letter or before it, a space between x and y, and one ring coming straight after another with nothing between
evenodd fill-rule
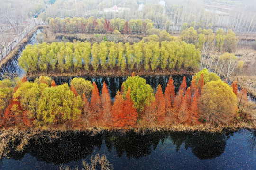
<instances>
[{"instance_id":1,"label":"slim pale-orange conifer spire just left of the bright orange-red pair","mask_svg":"<svg viewBox=\"0 0 256 170\"><path fill-rule=\"evenodd\" d=\"M105 82L103 82L102 93L101 93L101 103L103 110L104 122L109 125L111 121L111 99L108 87Z\"/></svg>"}]
</instances>

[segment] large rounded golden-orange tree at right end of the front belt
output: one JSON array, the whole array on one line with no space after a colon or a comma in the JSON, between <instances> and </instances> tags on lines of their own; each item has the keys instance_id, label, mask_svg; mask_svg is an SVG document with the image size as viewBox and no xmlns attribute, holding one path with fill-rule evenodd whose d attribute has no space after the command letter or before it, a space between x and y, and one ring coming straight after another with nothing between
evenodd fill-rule
<instances>
[{"instance_id":1,"label":"large rounded golden-orange tree at right end of the front belt","mask_svg":"<svg viewBox=\"0 0 256 170\"><path fill-rule=\"evenodd\" d=\"M204 85L198 103L199 113L211 124L228 124L236 114L236 95L221 80Z\"/></svg>"}]
</instances>

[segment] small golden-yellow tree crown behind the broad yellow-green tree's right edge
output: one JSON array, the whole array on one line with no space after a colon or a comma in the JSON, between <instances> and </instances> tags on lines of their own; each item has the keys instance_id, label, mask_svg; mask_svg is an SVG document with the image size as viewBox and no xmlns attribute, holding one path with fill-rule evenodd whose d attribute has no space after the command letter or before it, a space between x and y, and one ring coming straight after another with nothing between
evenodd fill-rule
<instances>
[{"instance_id":1,"label":"small golden-yellow tree crown behind the broad yellow-green tree's right edge","mask_svg":"<svg viewBox=\"0 0 256 170\"><path fill-rule=\"evenodd\" d=\"M75 90L81 97L83 94L85 94L87 99L91 98L91 92L93 88L91 81L85 80L84 78L73 78L70 82L70 85L74 86Z\"/></svg>"}]
</instances>

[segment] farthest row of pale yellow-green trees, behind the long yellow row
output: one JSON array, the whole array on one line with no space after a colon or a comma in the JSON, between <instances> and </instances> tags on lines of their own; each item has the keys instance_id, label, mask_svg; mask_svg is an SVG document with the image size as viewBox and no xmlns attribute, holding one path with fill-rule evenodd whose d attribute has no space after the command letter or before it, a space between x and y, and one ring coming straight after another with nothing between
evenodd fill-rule
<instances>
[{"instance_id":1,"label":"farthest row of pale yellow-green trees, behind the long yellow row","mask_svg":"<svg viewBox=\"0 0 256 170\"><path fill-rule=\"evenodd\" d=\"M116 18L107 20L104 18L95 19L89 17L73 17L60 19L59 17L49 20L50 28L58 33L112 33L118 30L122 34L143 34L153 28L153 22L149 19L124 19Z\"/></svg>"}]
</instances>

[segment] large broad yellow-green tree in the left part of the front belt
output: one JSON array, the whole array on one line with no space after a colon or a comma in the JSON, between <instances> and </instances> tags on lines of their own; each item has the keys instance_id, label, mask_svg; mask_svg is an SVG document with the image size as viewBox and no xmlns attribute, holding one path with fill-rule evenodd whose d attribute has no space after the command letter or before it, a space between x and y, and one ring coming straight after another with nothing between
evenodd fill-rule
<instances>
[{"instance_id":1,"label":"large broad yellow-green tree in the left part of the front belt","mask_svg":"<svg viewBox=\"0 0 256 170\"><path fill-rule=\"evenodd\" d=\"M81 114L83 105L81 97L75 96L67 83L46 87L38 101L37 121L43 125L75 121Z\"/></svg>"}]
</instances>

